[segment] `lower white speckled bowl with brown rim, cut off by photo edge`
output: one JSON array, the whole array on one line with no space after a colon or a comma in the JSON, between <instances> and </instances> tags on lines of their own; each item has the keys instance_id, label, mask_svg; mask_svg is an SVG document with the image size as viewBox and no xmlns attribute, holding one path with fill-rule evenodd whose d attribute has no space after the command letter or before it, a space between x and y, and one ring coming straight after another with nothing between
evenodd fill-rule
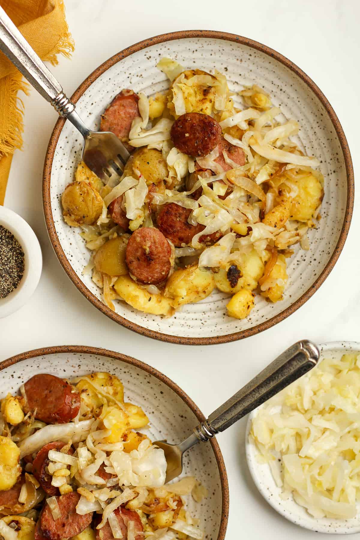
<instances>
[{"instance_id":1,"label":"lower white speckled bowl with brown rim, cut off by photo edge","mask_svg":"<svg viewBox=\"0 0 360 540\"><path fill-rule=\"evenodd\" d=\"M21 384L38 373L73 377L108 372L124 384L125 399L141 406L150 419L146 430L153 441L181 442L205 416L173 381L130 356L94 347L63 346L31 350L0 363L1 396L18 393ZM197 444L184 456L181 476L195 476L208 490L201 503L187 497L187 508L200 518L208 540L223 540L228 521L229 490L218 442Z\"/></svg>"}]
</instances>

